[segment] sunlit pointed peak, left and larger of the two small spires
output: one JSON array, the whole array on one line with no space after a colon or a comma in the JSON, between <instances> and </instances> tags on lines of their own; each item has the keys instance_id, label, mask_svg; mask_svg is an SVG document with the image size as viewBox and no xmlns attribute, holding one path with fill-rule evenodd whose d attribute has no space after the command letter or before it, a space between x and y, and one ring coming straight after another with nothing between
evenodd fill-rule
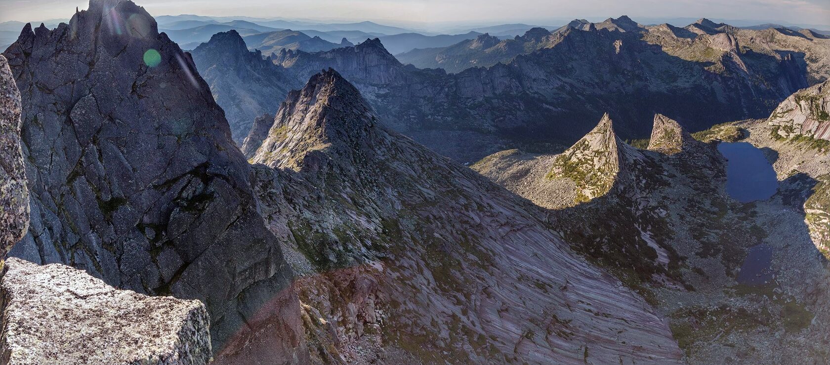
<instances>
[{"instance_id":1,"label":"sunlit pointed peak, left and larger of the two small spires","mask_svg":"<svg viewBox=\"0 0 830 365\"><path fill-rule=\"evenodd\" d=\"M569 179L577 188L575 202L588 202L609 192L625 161L640 155L614 133L608 113L576 144L554 159L549 179Z\"/></svg>"}]
</instances>

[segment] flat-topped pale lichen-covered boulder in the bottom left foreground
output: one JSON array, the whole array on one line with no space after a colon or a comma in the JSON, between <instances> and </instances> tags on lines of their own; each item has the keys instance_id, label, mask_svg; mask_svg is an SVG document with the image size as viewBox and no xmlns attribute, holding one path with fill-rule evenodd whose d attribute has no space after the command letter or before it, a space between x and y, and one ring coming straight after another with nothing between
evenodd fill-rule
<instances>
[{"instance_id":1,"label":"flat-topped pale lichen-covered boulder in the bottom left foreground","mask_svg":"<svg viewBox=\"0 0 830 365\"><path fill-rule=\"evenodd\" d=\"M205 364L209 320L198 300L117 290L82 270L10 258L0 285L0 362Z\"/></svg>"}]
</instances>

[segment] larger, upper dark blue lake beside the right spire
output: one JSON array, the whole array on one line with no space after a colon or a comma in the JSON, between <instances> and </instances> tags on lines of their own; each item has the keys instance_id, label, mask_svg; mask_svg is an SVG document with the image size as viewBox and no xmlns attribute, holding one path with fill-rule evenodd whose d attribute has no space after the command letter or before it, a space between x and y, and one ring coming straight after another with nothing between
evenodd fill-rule
<instances>
[{"instance_id":1,"label":"larger, upper dark blue lake beside the right spire","mask_svg":"<svg viewBox=\"0 0 830 365\"><path fill-rule=\"evenodd\" d=\"M726 163L726 192L739 202L754 202L772 197L778 178L764 153L746 142L721 142L718 151Z\"/></svg>"}]
</instances>

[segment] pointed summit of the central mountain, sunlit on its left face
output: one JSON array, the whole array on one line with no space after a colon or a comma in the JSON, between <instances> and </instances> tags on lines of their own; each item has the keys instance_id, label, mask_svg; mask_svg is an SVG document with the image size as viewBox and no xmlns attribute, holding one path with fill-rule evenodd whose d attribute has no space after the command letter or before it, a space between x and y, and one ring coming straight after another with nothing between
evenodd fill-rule
<instances>
[{"instance_id":1,"label":"pointed summit of the central mountain, sunlit on its left face","mask_svg":"<svg viewBox=\"0 0 830 365\"><path fill-rule=\"evenodd\" d=\"M373 153L366 144L376 122L360 92L330 68L289 93L252 161L300 168L296 156L324 147L347 159Z\"/></svg>"}]
</instances>

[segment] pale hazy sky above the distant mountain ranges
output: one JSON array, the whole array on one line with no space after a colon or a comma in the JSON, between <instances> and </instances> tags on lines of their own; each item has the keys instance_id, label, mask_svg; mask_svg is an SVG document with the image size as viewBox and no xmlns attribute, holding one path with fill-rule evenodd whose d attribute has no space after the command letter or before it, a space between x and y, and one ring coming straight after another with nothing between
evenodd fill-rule
<instances>
[{"instance_id":1,"label":"pale hazy sky above the distant mountain ranges","mask_svg":"<svg viewBox=\"0 0 830 365\"><path fill-rule=\"evenodd\" d=\"M150 14L493 24L626 14L637 18L712 17L830 26L830 0L134 0ZM68 18L78 0L0 0L0 22ZM547 22L546 22L547 21ZM548 24L551 23L551 24ZM685 24L677 24L685 25Z\"/></svg>"}]
</instances>

